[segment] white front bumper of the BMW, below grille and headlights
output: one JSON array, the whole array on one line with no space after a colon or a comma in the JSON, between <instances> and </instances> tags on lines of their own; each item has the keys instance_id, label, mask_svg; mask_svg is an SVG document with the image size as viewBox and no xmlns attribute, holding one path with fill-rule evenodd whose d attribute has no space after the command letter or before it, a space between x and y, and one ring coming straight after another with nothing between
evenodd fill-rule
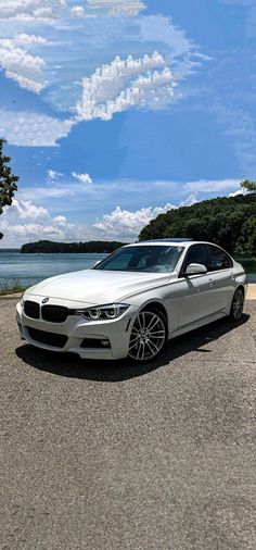
<instances>
[{"instance_id":1,"label":"white front bumper of the BMW, below grille and headlights","mask_svg":"<svg viewBox=\"0 0 256 550\"><path fill-rule=\"evenodd\" d=\"M34 301L40 302L40 299L33 297ZM20 336L28 343L40 349L56 352L73 352L82 359L123 359L128 355L130 330L132 320L137 314L137 308L130 305L128 310L118 318L112 321L87 321L81 315L71 315L64 323L50 323L42 318L34 320L25 315L22 302L16 307L16 320ZM38 341L35 334L40 330L43 334L62 335L66 337L63 347L43 343ZM39 334L39 333L38 333ZM85 340L89 346L85 346ZM99 341L108 340L108 347L99 347ZM93 345L95 342L95 346Z\"/></svg>"}]
</instances>

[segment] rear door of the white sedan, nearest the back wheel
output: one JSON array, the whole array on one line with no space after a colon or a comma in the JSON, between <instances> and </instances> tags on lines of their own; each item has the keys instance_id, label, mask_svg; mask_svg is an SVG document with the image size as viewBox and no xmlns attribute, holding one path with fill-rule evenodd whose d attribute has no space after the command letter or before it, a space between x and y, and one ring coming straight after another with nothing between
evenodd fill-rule
<instances>
[{"instance_id":1,"label":"rear door of the white sedan, nearest the back wheel","mask_svg":"<svg viewBox=\"0 0 256 550\"><path fill-rule=\"evenodd\" d=\"M215 245L207 246L208 270L214 283L215 312L226 310L231 304L235 280L233 261L225 250Z\"/></svg>"}]
</instances>

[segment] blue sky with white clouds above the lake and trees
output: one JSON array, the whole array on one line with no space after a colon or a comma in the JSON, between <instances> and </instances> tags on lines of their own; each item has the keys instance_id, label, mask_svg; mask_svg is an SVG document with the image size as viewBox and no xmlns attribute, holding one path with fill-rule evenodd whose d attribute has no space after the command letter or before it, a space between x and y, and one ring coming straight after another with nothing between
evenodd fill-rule
<instances>
[{"instance_id":1,"label":"blue sky with white clouds above the lake and trees","mask_svg":"<svg viewBox=\"0 0 256 550\"><path fill-rule=\"evenodd\" d=\"M255 0L0 0L1 248L136 239L256 177Z\"/></svg>"}]
</instances>

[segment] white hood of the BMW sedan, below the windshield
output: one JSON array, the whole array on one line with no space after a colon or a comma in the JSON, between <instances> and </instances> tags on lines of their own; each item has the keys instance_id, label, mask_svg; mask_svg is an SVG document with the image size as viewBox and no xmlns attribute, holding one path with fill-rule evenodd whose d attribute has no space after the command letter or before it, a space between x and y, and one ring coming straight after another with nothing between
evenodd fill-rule
<instances>
[{"instance_id":1,"label":"white hood of the BMW sedan, below the windshield","mask_svg":"<svg viewBox=\"0 0 256 550\"><path fill-rule=\"evenodd\" d=\"M100 305L117 302L139 291L161 286L174 276L171 273L85 270L46 279L29 288L27 293Z\"/></svg>"}]
</instances>

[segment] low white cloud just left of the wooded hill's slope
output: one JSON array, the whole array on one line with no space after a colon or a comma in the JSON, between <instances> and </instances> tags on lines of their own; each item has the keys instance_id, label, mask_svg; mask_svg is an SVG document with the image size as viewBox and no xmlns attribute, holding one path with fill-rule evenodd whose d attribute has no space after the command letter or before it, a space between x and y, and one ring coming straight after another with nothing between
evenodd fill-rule
<instances>
[{"instance_id":1,"label":"low white cloud just left of the wooded hill's slope","mask_svg":"<svg viewBox=\"0 0 256 550\"><path fill-rule=\"evenodd\" d=\"M150 207L137 212L129 212L128 210L121 210L120 207L116 207L111 214L105 214L93 227L107 235L107 237L136 238L151 220L171 209L177 209L177 207L174 204L166 204L163 208Z\"/></svg>"}]
</instances>

